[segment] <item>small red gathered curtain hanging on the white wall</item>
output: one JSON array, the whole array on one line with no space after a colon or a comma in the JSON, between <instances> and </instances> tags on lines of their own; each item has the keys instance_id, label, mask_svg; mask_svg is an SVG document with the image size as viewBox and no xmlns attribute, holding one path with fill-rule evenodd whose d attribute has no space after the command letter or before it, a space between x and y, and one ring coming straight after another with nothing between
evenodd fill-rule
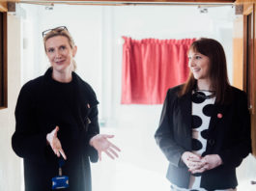
<instances>
[{"instance_id":1,"label":"small red gathered curtain hanging on the white wall","mask_svg":"<svg viewBox=\"0 0 256 191\"><path fill-rule=\"evenodd\" d=\"M122 104L161 104L169 88L185 82L195 39L123 39Z\"/></svg>"}]
</instances>

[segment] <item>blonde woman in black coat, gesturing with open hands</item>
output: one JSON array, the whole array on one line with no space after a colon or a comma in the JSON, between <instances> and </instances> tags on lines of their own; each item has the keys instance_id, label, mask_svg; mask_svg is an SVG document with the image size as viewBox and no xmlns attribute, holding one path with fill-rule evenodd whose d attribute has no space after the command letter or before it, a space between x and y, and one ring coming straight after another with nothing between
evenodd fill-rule
<instances>
[{"instance_id":1,"label":"blonde woman in black coat, gesturing with open hands","mask_svg":"<svg viewBox=\"0 0 256 191\"><path fill-rule=\"evenodd\" d=\"M77 47L66 27L43 32L51 64L43 76L26 83L17 99L15 153L24 160L25 191L91 191L90 161L101 152L120 151L102 135L98 100L75 72Z\"/></svg>"}]
</instances>

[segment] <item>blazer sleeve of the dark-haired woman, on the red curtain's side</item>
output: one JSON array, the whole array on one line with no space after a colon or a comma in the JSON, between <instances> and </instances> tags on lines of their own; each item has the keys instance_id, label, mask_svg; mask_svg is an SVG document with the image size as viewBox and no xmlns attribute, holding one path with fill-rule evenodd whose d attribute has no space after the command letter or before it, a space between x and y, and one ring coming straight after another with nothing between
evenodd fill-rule
<instances>
[{"instance_id":1,"label":"blazer sleeve of the dark-haired woman, on the red curtain's side","mask_svg":"<svg viewBox=\"0 0 256 191\"><path fill-rule=\"evenodd\" d=\"M177 95L171 90L167 92L160 117L160 123L155 133L156 144L164 153L168 161L177 166L184 167L181 157L185 149L179 146L173 138L173 104Z\"/></svg>"}]
</instances>

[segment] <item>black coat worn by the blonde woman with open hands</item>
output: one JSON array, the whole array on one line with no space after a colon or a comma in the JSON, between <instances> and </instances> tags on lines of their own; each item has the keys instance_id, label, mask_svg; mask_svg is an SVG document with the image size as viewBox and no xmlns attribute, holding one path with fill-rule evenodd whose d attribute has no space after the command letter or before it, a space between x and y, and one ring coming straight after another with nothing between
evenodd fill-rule
<instances>
[{"instance_id":1,"label":"black coat worn by the blonde woman with open hands","mask_svg":"<svg viewBox=\"0 0 256 191\"><path fill-rule=\"evenodd\" d=\"M91 191L91 161L98 160L89 140L100 132L98 100L93 89L72 72L70 83L52 79L52 69L26 83L15 108L16 127L12 139L15 153L24 158L26 191L51 189L58 176L58 157L46 144L46 134L56 125L67 155L63 176L70 178L71 191ZM89 123L90 122L90 123Z\"/></svg>"}]
</instances>

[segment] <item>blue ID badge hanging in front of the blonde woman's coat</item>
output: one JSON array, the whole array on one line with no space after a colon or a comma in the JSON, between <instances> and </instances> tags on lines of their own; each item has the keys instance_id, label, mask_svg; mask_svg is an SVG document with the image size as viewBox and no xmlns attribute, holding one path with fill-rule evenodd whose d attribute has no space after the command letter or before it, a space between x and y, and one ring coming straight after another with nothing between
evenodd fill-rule
<instances>
[{"instance_id":1,"label":"blue ID badge hanging in front of the blonde woman's coat","mask_svg":"<svg viewBox=\"0 0 256 191\"><path fill-rule=\"evenodd\" d=\"M62 189L62 188L68 188L69 187L69 177L62 176L62 166L64 165L64 159L59 160L59 176L52 177L52 189Z\"/></svg>"}]
</instances>

